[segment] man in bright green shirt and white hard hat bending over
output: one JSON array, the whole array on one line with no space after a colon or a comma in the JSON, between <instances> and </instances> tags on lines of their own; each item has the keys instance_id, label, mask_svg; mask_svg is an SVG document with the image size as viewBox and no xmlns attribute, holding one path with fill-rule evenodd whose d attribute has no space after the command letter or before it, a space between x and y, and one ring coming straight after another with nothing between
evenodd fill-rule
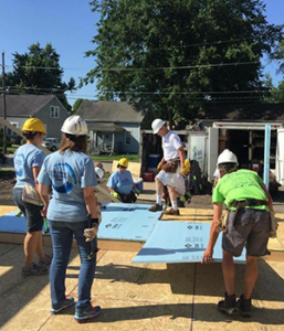
<instances>
[{"instance_id":1,"label":"man in bright green shirt and white hard hat bending over","mask_svg":"<svg viewBox=\"0 0 284 331\"><path fill-rule=\"evenodd\" d=\"M213 261L213 248L219 232L223 231L222 269L225 296L224 300L218 302L218 310L227 314L240 312L243 317L251 317L251 295L257 278L257 257L267 254L271 233L270 211L273 211L273 201L256 172L238 170L238 159L230 150L225 149L219 156L217 166L221 178L213 191L213 221L202 264ZM223 203L229 210L228 218L224 217L224 212L221 218ZM244 292L236 302L233 256L240 256L244 246L246 247Z\"/></svg>"}]
</instances>

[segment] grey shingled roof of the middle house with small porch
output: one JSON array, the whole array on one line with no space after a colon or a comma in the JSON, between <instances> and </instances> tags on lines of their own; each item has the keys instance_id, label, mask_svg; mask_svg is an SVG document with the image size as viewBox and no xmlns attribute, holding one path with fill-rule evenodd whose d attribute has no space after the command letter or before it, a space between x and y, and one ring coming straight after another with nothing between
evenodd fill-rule
<instances>
[{"instance_id":1,"label":"grey shingled roof of the middle house with small porch","mask_svg":"<svg viewBox=\"0 0 284 331\"><path fill-rule=\"evenodd\" d=\"M127 102L83 100L76 115L85 120L104 122L141 122L147 109Z\"/></svg>"}]
</instances>

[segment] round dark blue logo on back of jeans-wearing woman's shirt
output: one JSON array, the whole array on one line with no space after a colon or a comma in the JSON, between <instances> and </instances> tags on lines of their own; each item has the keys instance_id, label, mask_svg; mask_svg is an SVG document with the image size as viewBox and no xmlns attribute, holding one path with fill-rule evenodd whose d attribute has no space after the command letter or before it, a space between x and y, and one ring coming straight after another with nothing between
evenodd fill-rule
<instances>
[{"instance_id":1,"label":"round dark blue logo on back of jeans-wearing woman's shirt","mask_svg":"<svg viewBox=\"0 0 284 331\"><path fill-rule=\"evenodd\" d=\"M52 188L59 193L70 193L76 183L75 173L66 162L54 164L51 177Z\"/></svg>"}]
</instances>

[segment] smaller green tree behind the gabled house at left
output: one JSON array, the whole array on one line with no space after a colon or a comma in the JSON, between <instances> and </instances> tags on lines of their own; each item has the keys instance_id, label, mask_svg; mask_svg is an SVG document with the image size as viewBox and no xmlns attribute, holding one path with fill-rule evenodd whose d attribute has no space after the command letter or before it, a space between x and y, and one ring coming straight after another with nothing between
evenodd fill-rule
<instances>
[{"instance_id":1,"label":"smaller green tree behind the gabled house at left","mask_svg":"<svg viewBox=\"0 0 284 331\"><path fill-rule=\"evenodd\" d=\"M6 76L6 85L10 94L54 94L63 106L71 110L64 93L74 90L75 79L62 82L63 68L60 55L51 43L41 47L40 43L28 47L29 53L13 54L13 70Z\"/></svg>"}]
</instances>

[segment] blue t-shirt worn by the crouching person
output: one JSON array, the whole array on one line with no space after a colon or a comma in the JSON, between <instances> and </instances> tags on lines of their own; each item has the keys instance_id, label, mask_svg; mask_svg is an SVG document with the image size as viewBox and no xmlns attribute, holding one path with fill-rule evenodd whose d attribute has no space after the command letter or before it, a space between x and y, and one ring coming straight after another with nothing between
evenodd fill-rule
<instances>
[{"instance_id":1,"label":"blue t-shirt worn by the crouching person","mask_svg":"<svg viewBox=\"0 0 284 331\"><path fill-rule=\"evenodd\" d=\"M106 184L114 189L117 193L129 194L133 189L133 177L130 171L126 170L122 173L119 170L112 173Z\"/></svg>"}]
</instances>

